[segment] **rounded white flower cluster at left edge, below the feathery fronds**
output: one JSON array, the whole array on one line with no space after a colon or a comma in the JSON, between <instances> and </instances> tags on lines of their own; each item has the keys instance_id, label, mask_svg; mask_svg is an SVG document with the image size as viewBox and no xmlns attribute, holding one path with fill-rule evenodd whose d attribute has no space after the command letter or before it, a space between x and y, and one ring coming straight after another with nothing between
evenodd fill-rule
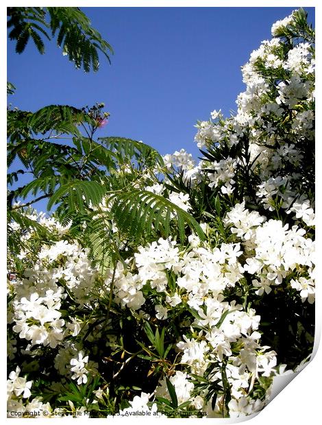
<instances>
[{"instance_id":1,"label":"rounded white flower cluster at left edge, below the feathery fronds","mask_svg":"<svg viewBox=\"0 0 322 425\"><path fill-rule=\"evenodd\" d=\"M35 215L34 219L37 217ZM48 220L48 228L60 232L60 224L56 228L55 223L55 219ZM35 255L31 268L30 258ZM76 336L80 330L75 318L62 319L62 302L68 296L79 306L93 302L91 291L97 274L90 266L88 250L78 243L60 240L42 245L38 252L21 252L18 257L28 267L23 278L9 285L9 292L14 294L8 318L14 324L12 330L21 339L29 341L29 348L34 345L56 348L65 337L69 334Z\"/></svg>"}]
</instances>

